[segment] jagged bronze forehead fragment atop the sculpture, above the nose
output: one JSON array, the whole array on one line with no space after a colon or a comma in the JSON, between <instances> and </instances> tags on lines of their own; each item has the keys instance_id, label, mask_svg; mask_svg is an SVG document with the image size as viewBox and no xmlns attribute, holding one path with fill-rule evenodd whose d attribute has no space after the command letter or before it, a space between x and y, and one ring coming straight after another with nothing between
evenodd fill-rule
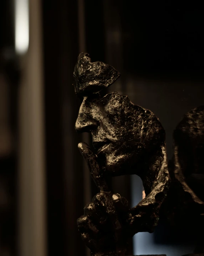
<instances>
[{"instance_id":1,"label":"jagged bronze forehead fragment atop the sculpture, above the nose","mask_svg":"<svg viewBox=\"0 0 204 256\"><path fill-rule=\"evenodd\" d=\"M86 95L98 93L113 84L121 74L103 62L91 62L87 53L80 53L75 66L75 92Z\"/></svg>"}]
</instances>

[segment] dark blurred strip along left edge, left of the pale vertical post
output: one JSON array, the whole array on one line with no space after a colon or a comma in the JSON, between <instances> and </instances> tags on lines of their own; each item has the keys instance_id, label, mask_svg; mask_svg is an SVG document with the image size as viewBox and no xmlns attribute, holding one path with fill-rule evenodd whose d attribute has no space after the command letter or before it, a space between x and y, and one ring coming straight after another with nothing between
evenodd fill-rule
<instances>
[{"instance_id":1,"label":"dark blurred strip along left edge, left of the pale vertical post","mask_svg":"<svg viewBox=\"0 0 204 256\"><path fill-rule=\"evenodd\" d=\"M17 88L11 1L0 2L0 255L16 252Z\"/></svg>"}]
</instances>

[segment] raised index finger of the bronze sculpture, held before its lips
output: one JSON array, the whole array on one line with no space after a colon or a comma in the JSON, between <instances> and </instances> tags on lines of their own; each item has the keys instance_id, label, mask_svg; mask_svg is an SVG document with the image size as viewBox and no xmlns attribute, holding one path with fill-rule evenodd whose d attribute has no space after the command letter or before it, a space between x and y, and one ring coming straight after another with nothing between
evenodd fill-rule
<instances>
[{"instance_id":1,"label":"raised index finger of the bronze sculpture, held before its lips","mask_svg":"<svg viewBox=\"0 0 204 256\"><path fill-rule=\"evenodd\" d=\"M100 167L97 162L97 156L92 152L91 148L84 142L78 144L78 149L80 150L83 158L85 159L90 174L95 181L98 189L100 191L109 191L106 180L101 173Z\"/></svg>"}]
</instances>

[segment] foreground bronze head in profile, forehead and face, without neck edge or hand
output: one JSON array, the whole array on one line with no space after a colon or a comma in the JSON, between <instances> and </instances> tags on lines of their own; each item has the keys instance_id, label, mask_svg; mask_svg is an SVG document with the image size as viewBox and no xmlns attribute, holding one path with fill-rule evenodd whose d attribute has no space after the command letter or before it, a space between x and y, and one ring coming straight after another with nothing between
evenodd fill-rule
<instances>
[{"instance_id":1,"label":"foreground bronze head in profile, forehead and face, without neck edge or hand","mask_svg":"<svg viewBox=\"0 0 204 256\"><path fill-rule=\"evenodd\" d=\"M142 169L149 164L157 173L165 148L165 132L158 118L117 92L100 96L100 91L119 76L113 67L91 63L88 54L79 55L74 71L75 92L83 102L76 130L92 134L98 159L111 176L142 176Z\"/></svg>"}]
</instances>

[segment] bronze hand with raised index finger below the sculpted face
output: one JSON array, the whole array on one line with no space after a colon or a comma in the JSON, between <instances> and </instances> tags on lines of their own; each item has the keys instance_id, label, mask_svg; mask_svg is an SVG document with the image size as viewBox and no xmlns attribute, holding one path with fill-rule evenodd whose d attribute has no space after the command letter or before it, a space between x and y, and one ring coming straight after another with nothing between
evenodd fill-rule
<instances>
[{"instance_id":1,"label":"bronze hand with raised index finger below the sculpted face","mask_svg":"<svg viewBox=\"0 0 204 256\"><path fill-rule=\"evenodd\" d=\"M109 190L97 163L97 156L90 147L80 143L78 148L100 190L84 208L84 215L77 220L78 230L92 256L122 256L126 251L129 233L128 202Z\"/></svg>"}]
</instances>

